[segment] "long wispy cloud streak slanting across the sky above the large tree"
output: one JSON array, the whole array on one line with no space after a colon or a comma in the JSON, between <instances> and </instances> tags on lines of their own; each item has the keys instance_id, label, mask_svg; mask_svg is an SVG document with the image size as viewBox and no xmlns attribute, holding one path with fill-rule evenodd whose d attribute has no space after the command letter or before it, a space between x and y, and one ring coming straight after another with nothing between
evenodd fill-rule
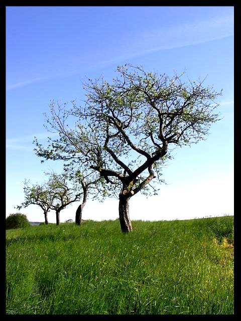
<instances>
[{"instance_id":1,"label":"long wispy cloud streak slanting across the sky above the large tree","mask_svg":"<svg viewBox=\"0 0 241 321\"><path fill-rule=\"evenodd\" d=\"M233 21L233 15L226 15L171 27L163 26L159 29L147 30L146 32L136 34L135 36L131 35L130 38L126 37L126 42L123 43L121 48L114 48L112 51L110 50L110 55L114 58L109 57L106 60L99 60L96 64L81 66L74 71L66 71L44 77L35 77L27 81L18 82L7 86L7 91L27 86L35 82L78 74L84 70L119 63L120 61L128 61L161 50L193 46L230 37L234 33ZM115 55L113 52L121 52L121 55Z\"/></svg>"}]
</instances>

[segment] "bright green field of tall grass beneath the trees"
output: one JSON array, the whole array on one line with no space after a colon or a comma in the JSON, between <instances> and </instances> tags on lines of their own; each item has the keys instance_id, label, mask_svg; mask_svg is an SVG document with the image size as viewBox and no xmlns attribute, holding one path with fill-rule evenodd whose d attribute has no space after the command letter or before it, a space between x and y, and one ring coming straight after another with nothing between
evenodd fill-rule
<instances>
[{"instance_id":1,"label":"bright green field of tall grass beneath the trees","mask_svg":"<svg viewBox=\"0 0 241 321\"><path fill-rule=\"evenodd\" d=\"M233 314L233 216L6 232L7 314Z\"/></svg>"}]
</instances>

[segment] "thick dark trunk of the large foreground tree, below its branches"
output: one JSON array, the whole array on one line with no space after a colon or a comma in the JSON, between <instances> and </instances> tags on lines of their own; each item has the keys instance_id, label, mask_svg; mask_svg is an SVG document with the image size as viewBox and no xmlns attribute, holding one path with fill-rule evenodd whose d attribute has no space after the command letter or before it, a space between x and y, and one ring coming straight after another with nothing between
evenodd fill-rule
<instances>
[{"instance_id":1,"label":"thick dark trunk of the large foreground tree, below its branches","mask_svg":"<svg viewBox=\"0 0 241 321\"><path fill-rule=\"evenodd\" d=\"M122 232L132 232L132 223L129 217L129 200L130 196L119 195L119 223Z\"/></svg>"}]
</instances>

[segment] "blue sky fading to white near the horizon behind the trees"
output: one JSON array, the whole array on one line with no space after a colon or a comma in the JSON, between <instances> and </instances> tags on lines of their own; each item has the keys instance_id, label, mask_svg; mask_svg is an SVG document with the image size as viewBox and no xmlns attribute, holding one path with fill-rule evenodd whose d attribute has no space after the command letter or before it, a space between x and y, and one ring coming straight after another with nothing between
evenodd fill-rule
<instances>
[{"instance_id":1,"label":"blue sky fading to white near the horizon behind the trees","mask_svg":"<svg viewBox=\"0 0 241 321\"><path fill-rule=\"evenodd\" d=\"M61 171L33 151L34 136L44 143L49 135L43 113L50 101L81 103L82 81L111 81L125 63L207 76L206 85L223 89L222 119L205 141L175 150L163 171L167 185L158 196L133 197L131 219L144 220L146 211L150 220L233 215L233 7L7 7L6 28L6 216L24 201L25 178L42 183L44 171ZM61 222L74 219L77 206L63 210ZM44 221L37 206L21 212ZM117 217L113 199L89 200L83 212L83 219Z\"/></svg>"}]
</instances>

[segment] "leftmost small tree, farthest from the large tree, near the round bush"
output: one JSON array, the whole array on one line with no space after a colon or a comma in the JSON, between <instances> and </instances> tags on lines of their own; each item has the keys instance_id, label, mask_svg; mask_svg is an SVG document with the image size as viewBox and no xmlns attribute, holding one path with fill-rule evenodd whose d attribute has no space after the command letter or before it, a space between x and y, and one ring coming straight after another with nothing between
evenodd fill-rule
<instances>
[{"instance_id":1,"label":"leftmost small tree, farthest from the large tree, near the round bush","mask_svg":"<svg viewBox=\"0 0 241 321\"><path fill-rule=\"evenodd\" d=\"M44 219L45 224L48 224L48 212L51 209L51 205L53 204L53 196L49 193L48 189L46 189L45 185L35 184L30 186L30 182L28 180L24 181L24 194L25 201L17 206L18 210L22 208L26 208L29 205L38 205L44 211Z\"/></svg>"}]
</instances>

